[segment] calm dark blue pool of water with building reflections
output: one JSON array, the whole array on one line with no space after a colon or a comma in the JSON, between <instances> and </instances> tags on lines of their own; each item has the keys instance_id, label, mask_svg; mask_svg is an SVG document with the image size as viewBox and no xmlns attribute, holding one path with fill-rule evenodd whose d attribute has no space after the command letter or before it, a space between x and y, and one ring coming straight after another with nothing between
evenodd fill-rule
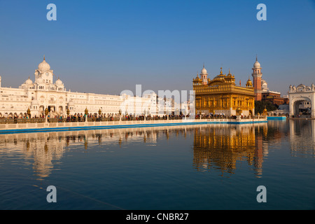
<instances>
[{"instance_id":1,"label":"calm dark blue pool of water with building reflections","mask_svg":"<svg viewBox=\"0 0 315 224\"><path fill-rule=\"evenodd\" d=\"M0 209L315 209L314 130L304 120L0 134Z\"/></svg>"}]
</instances>

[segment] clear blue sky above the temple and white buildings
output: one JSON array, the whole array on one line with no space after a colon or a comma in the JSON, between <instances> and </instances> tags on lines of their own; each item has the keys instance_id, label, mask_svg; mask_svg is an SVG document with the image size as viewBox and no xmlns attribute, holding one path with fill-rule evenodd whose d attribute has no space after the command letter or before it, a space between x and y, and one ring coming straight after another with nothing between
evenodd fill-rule
<instances>
[{"instance_id":1,"label":"clear blue sky above the temple and white buildings","mask_svg":"<svg viewBox=\"0 0 315 224\"><path fill-rule=\"evenodd\" d=\"M48 3L57 21L48 21ZM258 21L258 3L267 20ZM18 87L45 55L67 90L191 90L204 63L209 78L246 83L255 55L270 90L315 83L314 1L3 1L2 86Z\"/></svg>"}]
</instances>

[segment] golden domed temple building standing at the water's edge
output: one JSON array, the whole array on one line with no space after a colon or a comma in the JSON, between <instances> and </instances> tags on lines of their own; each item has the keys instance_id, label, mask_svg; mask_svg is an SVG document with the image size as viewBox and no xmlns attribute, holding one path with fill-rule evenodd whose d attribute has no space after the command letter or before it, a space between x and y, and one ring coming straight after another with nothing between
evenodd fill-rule
<instances>
[{"instance_id":1,"label":"golden domed temple building standing at the water's edge","mask_svg":"<svg viewBox=\"0 0 315 224\"><path fill-rule=\"evenodd\" d=\"M207 70L202 69L201 78L193 79L195 90L195 111L197 114L222 114L224 116L251 116L255 114L255 93L253 83L248 78L246 86L235 85L235 76L221 73L213 80L207 78Z\"/></svg>"}]
</instances>

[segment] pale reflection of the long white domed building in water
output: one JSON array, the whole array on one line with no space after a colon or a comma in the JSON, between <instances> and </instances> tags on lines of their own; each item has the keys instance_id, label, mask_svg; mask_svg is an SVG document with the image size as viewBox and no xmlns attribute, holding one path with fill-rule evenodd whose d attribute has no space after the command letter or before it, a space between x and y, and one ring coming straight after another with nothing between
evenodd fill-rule
<instances>
[{"instance_id":1,"label":"pale reflection of the long white domed building in water","mask_svg":"<svg viewBox=\"0 0 315 224\"><path fill-rule=\"evenodd\" d=\"M22 156L25 164L31 165L37 179L43 180L54 171L55 165L69 150L93 148L102 145L103 151L112 151L127 141L145 142L149 146L157 143L158 137L169 137L180 131L193 131L197 125L171 127L140 127L112 130L80 130L70 132L35 132L0 134L1 156ZM159 135L160 134L160 135ZM106 147L108 146L108 147Z\"/></svg>"}]
</instances>

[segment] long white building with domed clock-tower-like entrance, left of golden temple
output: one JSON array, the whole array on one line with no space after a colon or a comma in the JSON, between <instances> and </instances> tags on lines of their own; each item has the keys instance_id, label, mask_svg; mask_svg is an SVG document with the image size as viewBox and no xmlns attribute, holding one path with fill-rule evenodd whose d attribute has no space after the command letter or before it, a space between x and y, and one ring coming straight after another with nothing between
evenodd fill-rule
<instances>
[{"instance_id":1,"label":"long white building with domed clock-tower-like entrance, left of golden temple","mask_svg":"<svg viewBox=\"0 0 315 224\"><path fill-rule=\"evenodd\" d=\"M71 92L66 90L64 83L43 58L34 73L35 80L28 78L19 88L1 87L0 76L0 117L27 117L27 109L31 110L31 117L43 116L45 109L50 116L66 116L69 109L71 115L84 115L85 109L89 113L97 113L101 109L103 115L119 113L126 98L132 99L135 108L133 111L156 111L156 94L145 97L126 97L120 95L94 94ZM154 99L155 97L155 99ZM140 109L138 109L141 107ZM125 110L121 110L125 113Z\"/></svg>"}]
</instances>

